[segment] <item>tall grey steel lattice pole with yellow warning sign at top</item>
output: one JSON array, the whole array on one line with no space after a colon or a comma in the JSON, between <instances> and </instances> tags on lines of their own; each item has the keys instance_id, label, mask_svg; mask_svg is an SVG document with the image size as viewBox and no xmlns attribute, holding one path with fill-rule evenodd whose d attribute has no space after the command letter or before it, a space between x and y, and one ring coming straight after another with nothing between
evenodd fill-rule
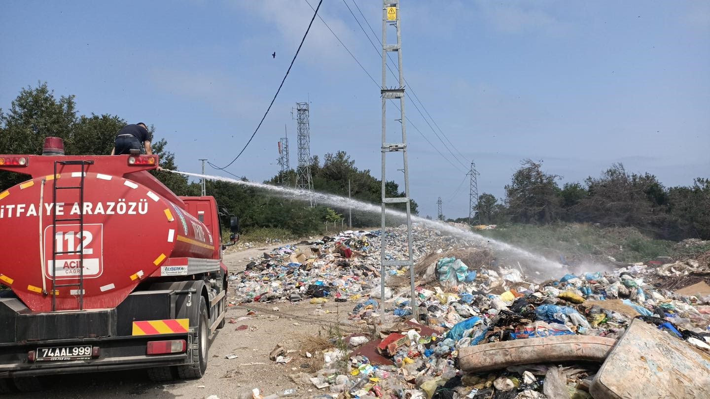
<instances>
[{"instance_id":1,"label":"tall grey steel lattice pole with yellow warning sign at top","mask_svg":"<svg viewBox=\"0 0 710 399\"><path fill-rule=\"evenodd\" d=\"M387 28L395 28L397 33L397 42L395 44L387 43ZM387 87L387 60L388 51L395 51L397 53L398 60L398 70L399 79L396 86L393 88ZM405 113L404 113L404 75L402 72L402 33L400 30L400 8L399 0L383 0L382 3L382 87L380 89L380 95L382 97L382 246L381 246L381 300L380 300L380 314L381 321L384 324L385 321L385 276L386 266L409 266L410 270L410 290L412 295L411 305L412 305L412 316L415 320L419 320L417 316L417 292L414 289L414 255L412 251L412 214L410 210L410 198L409 198L409 164L407 160L407 129L405 126ZM395 138L394 142L387 141L387 102L389 100L399 99L400 115L398 121L401 127L401 136ZM401 139L400 142L398 140ZM385 169L385 159L386 155L391 152L400 152L403 156L403 172L404 172L404 197L387 197L385 184L387 182L386 169ZM396 204L404 203L407 209L407 243L409 246L408 259L386 259L386 244L385 239L385 214L386 214L386 204Z\"/></svg>"}]
</instances>

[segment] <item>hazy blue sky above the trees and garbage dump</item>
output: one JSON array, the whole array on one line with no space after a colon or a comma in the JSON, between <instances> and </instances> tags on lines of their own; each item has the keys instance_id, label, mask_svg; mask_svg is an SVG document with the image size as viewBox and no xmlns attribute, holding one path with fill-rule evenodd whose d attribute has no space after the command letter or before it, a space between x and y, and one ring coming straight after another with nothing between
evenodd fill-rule
<instances>
[{"instance_id":1,"label":"hazy blue sky above the trees and garbage dump","mask_svg":"<svg viewBox=\"0 0 710 399\"><path fill-rule=\"evenodd\" d=\"M3 1L0 108L47 82L75 94L80 114L152 124L180 170L199 173L200 158L226 165L288 69L313 15L307 1ZM362 67L316 18L230 173L278 173L285 131L297 165L292 110L309 102L311 155L344 150L381 177L382 3L324 0L319 15ZM438 197L446 217L468 216L471 161L479 193L499 198L525 158L560 185L613 163L666 186L710 177L709 1L401 0L400 18L410 194L422 216L436 216ZM389 72L386 84L396 85ZM399 111L387 112L396 142ZM401 186L400 154L387 165Z\"/></svg>"}]
</instances>

